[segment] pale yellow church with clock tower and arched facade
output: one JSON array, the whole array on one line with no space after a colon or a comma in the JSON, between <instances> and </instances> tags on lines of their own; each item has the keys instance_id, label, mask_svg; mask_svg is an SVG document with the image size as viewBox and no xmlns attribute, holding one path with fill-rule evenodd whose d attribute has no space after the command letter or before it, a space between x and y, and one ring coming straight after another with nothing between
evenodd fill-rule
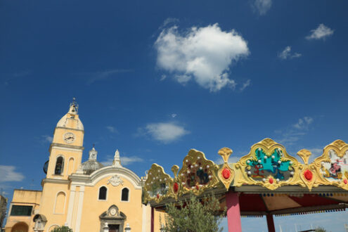
<instances>
[{"instance_id":1,"label":"pale yellow church with clock tower and arched facade","mask_svg":"<svg viewBox=\"0 0 348 232\"><path fill-rule=\"evenodd\" d=\"M15 189L6 232L49 232L58 226L74 232L150 231L151 208L141 202L146 176L122 167L118 150L110 166L97 161L95 148L82 163L83 143L84 125L74 100L54 129L42 191ZM159 217L156 212L153 220Z\"/></svg>"}]
</instances>

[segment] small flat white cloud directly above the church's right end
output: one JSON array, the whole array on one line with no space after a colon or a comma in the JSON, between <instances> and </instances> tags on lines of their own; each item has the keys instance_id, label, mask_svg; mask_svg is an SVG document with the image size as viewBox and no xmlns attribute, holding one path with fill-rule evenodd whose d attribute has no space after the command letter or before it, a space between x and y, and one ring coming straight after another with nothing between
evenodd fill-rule
<instances>
[{"instance_id":1,"label":"small flat white cloud directly above the church's right end","mask_svg":"<svg viewBox=\"0 0 348 232\"><path fill-rule=\"evenodd\" d=\"M189 133L190 131L173 122L150 123L145 128L138 129L138 135L150 135L162 143L171 143Z\"/></svg>"}]
</instances>

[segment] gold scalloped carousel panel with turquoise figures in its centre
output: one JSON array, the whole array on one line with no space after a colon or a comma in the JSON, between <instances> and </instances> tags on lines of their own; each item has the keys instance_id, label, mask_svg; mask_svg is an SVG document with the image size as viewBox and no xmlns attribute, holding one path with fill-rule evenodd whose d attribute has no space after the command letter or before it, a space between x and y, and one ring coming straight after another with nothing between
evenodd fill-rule
<instances>
[{"instance_id":1,"label":"gold scalloped carousel panel with turquoise figures in its centre","mask_svg":"<svg viewBox=\"0 0 348 232\"><path fill-rule=\"evenodd\" d=\"M250 153L236 163L241 175L234 185L257 184L273 190L288 185L294 179L298 165L296 158L288 155L281 144L265 138L254 144Z\"/></svg>"}]
</instances>

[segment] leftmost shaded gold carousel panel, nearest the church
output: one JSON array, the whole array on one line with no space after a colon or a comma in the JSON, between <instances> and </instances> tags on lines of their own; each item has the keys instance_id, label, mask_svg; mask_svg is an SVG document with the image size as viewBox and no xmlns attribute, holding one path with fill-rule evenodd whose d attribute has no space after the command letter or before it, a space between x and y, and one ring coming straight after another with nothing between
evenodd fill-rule
<instances>
[{"instance_id":1,"label":"leftmost shaded gold carousel panel, nearest the church","mask_svg":"<svg viewBox=\"0 0 348 232\"><path fill-rule=\"evenodd\" d=\"M155 200L160 202L164 198L171 195L169 188L172 186L172 178L166 174L163 167L153 164L148 171L148 179L146 179L143 187L143 202Z\"/></svg>"}]
</instances>

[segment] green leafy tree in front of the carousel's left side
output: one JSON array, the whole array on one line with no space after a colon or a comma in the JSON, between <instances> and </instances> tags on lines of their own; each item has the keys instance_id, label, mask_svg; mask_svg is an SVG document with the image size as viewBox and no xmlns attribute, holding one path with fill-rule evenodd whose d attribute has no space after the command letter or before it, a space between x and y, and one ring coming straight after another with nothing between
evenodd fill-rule
<instances>
[{"instance_id":1,"label":"green leafy tree in front of the carousel's left side","mask_svg":"<svg viewBox=\"0 0 348 232\"><path fill-rule=\"evenodd\" d=\"M179 205L169 204L165 214L165 232L216 232L224 213L217 216L220 210L219 200L214 195L202 201L191 195L189 200L179 202ZM225 210L226 211L226 210ZM162 220L160 218L160 224Z\"/></svg>"}]
</instances>

